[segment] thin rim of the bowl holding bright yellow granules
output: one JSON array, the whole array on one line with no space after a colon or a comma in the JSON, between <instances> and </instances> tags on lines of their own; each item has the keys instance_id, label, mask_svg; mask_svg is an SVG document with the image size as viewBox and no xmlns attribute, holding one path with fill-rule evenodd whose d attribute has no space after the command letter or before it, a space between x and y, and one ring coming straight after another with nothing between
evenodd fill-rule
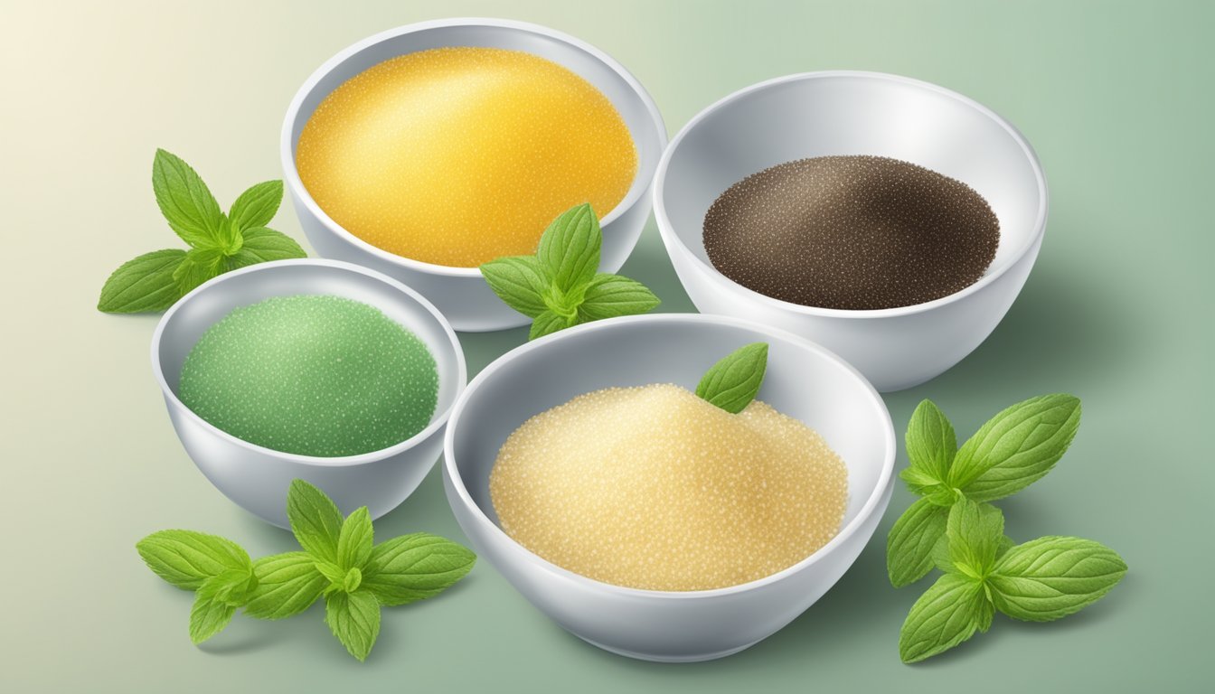
<instances>
[{"instance_id":1,"label":"thin rim of the bowl holding bright yellow granules","mask_svg":"<svg viewBox=\"0 0 1215 694\"><path fill-rule=\"evenodd\" d=\"M322 226L324 226L330 233L334 233L343 241L354 244L360 250L369 253L378 260L390 263L392 265L401 266L407 270L425 272L429 275L440 275L448 277L481 277L480 267L459 267L454 265L437 265L423 260L414 260L413 258L406 258L403 255L390 253L388 250L384 250L383 248L379 248L377 246L373 246L363 241L362 238L358 238L357 236L347 231L345 227L343 227L340 224L334 221L333 218L328 215L328 213L321 209L321 205L317 204L317 202L312 198L312 194L304 186L304 181L300 179L299 170L295 168L294 142L292 139L292 130L295 125L295 122L299 119L299 112L300 107L304 103L304 100L307 98L313 92L313 90L316 90L317 84L322 79L328 77L330 72L333 72L338 66L344 63L346 60L377 44L388 41L390 39L396 39L399 36L403 36L407 34L428 32L431 29L440 29L447 27L490 27L495 29L508 29L529 34L538 34L541 36L554 39L556 41L566 44L572 49L586 52L597 61L599 61L600 63L603 63L605 67L611 69L621 79L623 79L626 84L628 84L628 86L633 91L633 95L637 96L637 98L640 100L642 106L645 107L645 112L649 114L651 124L654 125L655 131L659 136L659 148L663 152L667 148L667 126L662 120L662 114L659 112L659 107L657 105L655 105L654 98L645 90L642 83L635 77L633 77L633 74L628 72L628 69L625 68L625 66L622 66L615 58L609 56L606 52L597 49L595 46L578 38L530 22L518 22L514 19L498 19L492 17L452 17L446 19L414 22L412 24L405 24L401 27L396 27L394 29L379 32L378 34L373 34L371 36L367 36L366 39L356 41L346 46L341 51L339 51L329 60L327 60L324 63L321 64L321 67L316 68L316 70L313 70L312 74L310 74L306 80L304 80L304 84L300 85L299 90L295 92L295 96L292 98L290 106L287 107L287 115L283 118L283 128L279 136L279 156L282 158L284 181L287 184L288 190L290 190L294 193L295 199L298 199L300 204L307 208L309 213L312 216L315 216L322 224ZM408 55L408 53L401 53L401 55ZM612 106L615 107L615 103ZM644 201L646 197L646 192L649 191L651 184L654 182L654 176L655 173L657 171L657 168L659 168L657 164L655 164L651 168L651 170L649 171L643 170L639 158L638 170L637 174L633 176L633 182L631 184L628 192L620 201L620 203L617 203L616 207L611 209L611 211L609 211L606 215L603 216L603 219L599 220L599 225L608 226L617 218L622 216L626 211L633 209L642 201Z\"/></svg>"}]
</instances>

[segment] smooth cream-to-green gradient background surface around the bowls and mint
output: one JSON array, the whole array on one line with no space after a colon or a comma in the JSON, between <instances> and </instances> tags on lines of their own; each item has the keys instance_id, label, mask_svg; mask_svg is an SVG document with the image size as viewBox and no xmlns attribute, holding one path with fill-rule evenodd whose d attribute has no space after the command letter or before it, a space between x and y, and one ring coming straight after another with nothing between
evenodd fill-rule
<instances>
[{"instance_id":1,"label":"smooth cream-to-green gradient background surface around the bowls and mint","mask_svg":"<svg viewBox=\"0 0 1215 694\"><path fill-rule=\"evenodd\" d=\"M1143 2L147 2L5 1L0 15L0 689L56 692L927 692L1206 688L1210 430L1215 385L1209 130L1211 4ZM1021 298L946 374L887 396L898 430L932 397L963 436L1040 393L1084 399L1058 469L1005 508L1010 534L1091 537L1131 566L1101 603L1053 625L998 617L920 666L897 654L915 588L886 581L875 541L791 626L725 660L632 661L583 644L488 564L439 599L388 610L367 664L322 611L237 617L190 644L190 596L134 542L164 527L289 535L230 503L174 436L148 368L156 317L94 310L108 273L180 246L152 198L156 147L224 204L278 177L278 130L304 79L344 46L443 16L548 24L615 56L668 129L747 84L818 69L929 80L991 107L1041 157L1045 246ZM892 114L894 115L894 114ZM275 225L303 241L284 209ZM663 310L691 305L651 225L627 275ZM464 335L470 372L522 331ZM905 458L899 456L899 467ZM382 537L462 538L439 469Z\"/></svg>"}]
</instances>

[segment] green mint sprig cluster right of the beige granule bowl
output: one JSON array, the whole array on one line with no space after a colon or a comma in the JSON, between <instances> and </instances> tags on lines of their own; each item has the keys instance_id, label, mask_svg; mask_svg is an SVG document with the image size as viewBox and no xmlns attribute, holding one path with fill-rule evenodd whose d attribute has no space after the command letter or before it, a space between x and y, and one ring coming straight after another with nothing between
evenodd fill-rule
<instances>
[{"instance_id":1,"label":"green mint sprig cluster right of the beige granule bowl","mask_svg":"<svg viewBox=\"0 0 1215 694\"><path fill-rule=\"evenodd\" d=\"M989 503L1041 479L1063 456L1080 401L1044 395L993 417L957 448L953 425L925 400L906 431L900 478L921 496L887 537L894 587L933 568L943 575L911 606L899 634L904 662L931 658L991 626L996 611L1027 621L1059 619L1092 604L1126 574L1112 549L1079 537L1016 545Z\"/></svg>"}]
</instances>

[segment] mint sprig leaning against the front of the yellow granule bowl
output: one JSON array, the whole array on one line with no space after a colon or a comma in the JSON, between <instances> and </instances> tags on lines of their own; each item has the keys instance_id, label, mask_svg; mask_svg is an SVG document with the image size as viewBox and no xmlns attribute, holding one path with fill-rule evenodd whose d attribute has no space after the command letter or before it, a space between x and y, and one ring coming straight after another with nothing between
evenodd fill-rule
<instances>
[{"instance_id":1,"label":"mint sprig leaning against the front of the yellow granule bowl","mask_svg":"<svg viewBox=\"0 0 1215 694\"><path fill-rule=\"evenodd\" d=\"M491 260L481 275L508 306L532 318L527 339L657 306L659 298L640 282L597 272L601 247L599 219L581 204L553 220L535 255Z\"/></svg>"}]
</instances>

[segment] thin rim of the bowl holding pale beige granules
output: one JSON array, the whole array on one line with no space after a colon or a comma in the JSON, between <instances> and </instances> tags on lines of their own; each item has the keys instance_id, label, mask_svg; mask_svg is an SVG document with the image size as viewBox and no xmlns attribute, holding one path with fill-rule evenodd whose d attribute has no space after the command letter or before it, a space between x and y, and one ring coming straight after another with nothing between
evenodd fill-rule
<instances>
[{"instance_id":1,"label":"thin rim of the bowl holding pale beige granules","mask_svg":"<svg viewBox=\"0 0 1215 694\"><path fill-rule=\"evenodd\" d=\"M507 368L508 365L510 365L510 362L513 362L520 355L527 354L537 349L544 349L549 344L571 337L581 335L583 333L610 331L616 328L617 326L628 326L635 323L683 323L683 325L708 323L708 325L724 325L730 327L746 328L764 335L769 335L773 339L792 343L796 346L816 352L827 361L842 366L848 373L850 373L858 382L860 382L861 387L869 394L870 402L876 405L878 412L885 416L883 419L886 424L882 431L885 451L886 451L882 459L882 468L878 473L877 483L874 485L874 491L870 492L869 498L865 500L865 503L860 507L860 510L857 512L857 515L847 524L844 524L843 527L840 529L840 532L837 532L831 540L829 540L826 545L819 547L812 554L803 558L801 562L792 564L791 566L786 566L785 569L781 569L775 574L769 574L768 576L764 576L762 579L756 579L755 581L747 581L746 583L739 583L735 586L725 586L722 588L711 588L703 591L654 591L646 588L632 588L628 586L617 586L615 583L606 583L597 579L590 579L588 576L583 576L581 574L570 571L569 569L558 566L556 564L553 564L552 562L544 559L539 554L536 554L535 552L524 547L521 543L519 543L513 537L507 535L507 532L502 530L502 527L499 527L498 524L490 520L490 518L485 514L485 512L481 510L481 507L477 506L475 501L473 501L473 496L468 492L468 487L464 485L464 479L459 474L459 468L456 464L456 455L453 451L456 441L456 429L458 427L460 414L464 411L465 402L473 397L473 394L476 393L477 388L480 388L485 380L492 377L496 372ZM761 589L772 583L784 581L793 576L795 574L799 574L801 571L823 560L824 557L827 557L832 552L837 551L848 538L859 532L860 526L864 525L872 517L874 512L881 504L881 500L883 496L886 496L886 492L888 491L888 487L891 486L891 481L894 475L894 458L897 453L898 453L898 445L894 439L894 423L891 419L889 410L886 407L886 401L882 400L882 396L877 393L877 390L874 389L872 384L869 383L869 380L859 371L857 371L855 367L853 367L850 363L841 359L831 350L824 348L823 345L810 342L793 333L779 328L773 328L763 323L757 323L755 321L747 321L730 316L718 316L712 314L650 314L640 316L623 316L616 318L606 318L600 321L593 321L589 323L583 323L581 326L575 326L572 328L566 328L564 331L559 331L556 333L546 335L543 338L526 342L516 346L515 349L505 352L501 357L496 359L493 362L486 366L479 374L476 374L476 377L471 382L469 382L468 388L464 389L464 393L456 402L456 407L450 419L450 425L447 427L447 431L443 434L443 472L446 474L446 479L451 485L452 491L456 492L460 503L463 503L471 513L473 523L485 526L487 531L495 537L497 537L499 541L505 541L509 547L518 549L525 560L530 562L541 570L555 575L558 579L572 581L575 583L588 586L594 589L604 591L608 593L614 593L617 596L642 597L642 598L662 598L662 599L671 598L671 599L684 599L684 600L717 598L717 597L734 596L739 593Z\"/></svg>"}]
</instances>

